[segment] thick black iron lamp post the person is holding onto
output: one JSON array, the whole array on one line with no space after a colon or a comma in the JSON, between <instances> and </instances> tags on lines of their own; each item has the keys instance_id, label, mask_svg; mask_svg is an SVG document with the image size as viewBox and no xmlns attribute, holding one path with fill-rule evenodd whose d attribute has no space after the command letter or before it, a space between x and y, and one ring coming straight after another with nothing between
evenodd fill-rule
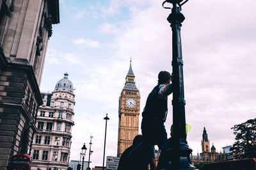
<instances>
[{"instance_id":1,"label":"thick black iron lamp post the person is holding onto","mask_svg":"<svg viewBox=\"0 0 256 170\"><path fill-rule=\"evenodd\" d=\"M180 27L185 17L180 13L181 6L188 0L166 0L164 8L172 9L167 18L172 27L172 85L173 85L173 146L170 150L172 164L170 169L196 169L192 164L189 155L192 150L186 141L186 118L183 80L183 60L180 38ZM172 3L173 7L165 7L165 3Z\"/></svg>"}]
</instances>

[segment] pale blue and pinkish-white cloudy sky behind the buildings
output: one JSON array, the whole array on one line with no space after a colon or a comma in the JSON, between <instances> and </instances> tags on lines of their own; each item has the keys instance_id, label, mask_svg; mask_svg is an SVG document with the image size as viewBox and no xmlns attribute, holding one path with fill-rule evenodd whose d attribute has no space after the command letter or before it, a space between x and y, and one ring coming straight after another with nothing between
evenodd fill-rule
<instances>
[{"instance_id":1,"label":"pale blue and pinkish-white cloudy sky behind the buildings","mask_svg":"<svg viewBox=\"0 0 256 170\"><path fill-rule=\"evenodd\" d=\"M66 71L76 88L70 160L79 160L83 143L89 148L93 136L92 166L102 166L106 113L106 156L116 156L118 97L130 57L141 111L159 71L172 71L172 32L166 20L170 10L162 3L60 0L60 24L53 27L40 89L52 91ZM189 0L182 6L186 121L192 126L188 144L194 155L202 152L204 126L220 152L234 142L234 124L255 118L255 11L255 0ZM168 134L171 101L172 96Z\"/></svg>"}]
</instances>

